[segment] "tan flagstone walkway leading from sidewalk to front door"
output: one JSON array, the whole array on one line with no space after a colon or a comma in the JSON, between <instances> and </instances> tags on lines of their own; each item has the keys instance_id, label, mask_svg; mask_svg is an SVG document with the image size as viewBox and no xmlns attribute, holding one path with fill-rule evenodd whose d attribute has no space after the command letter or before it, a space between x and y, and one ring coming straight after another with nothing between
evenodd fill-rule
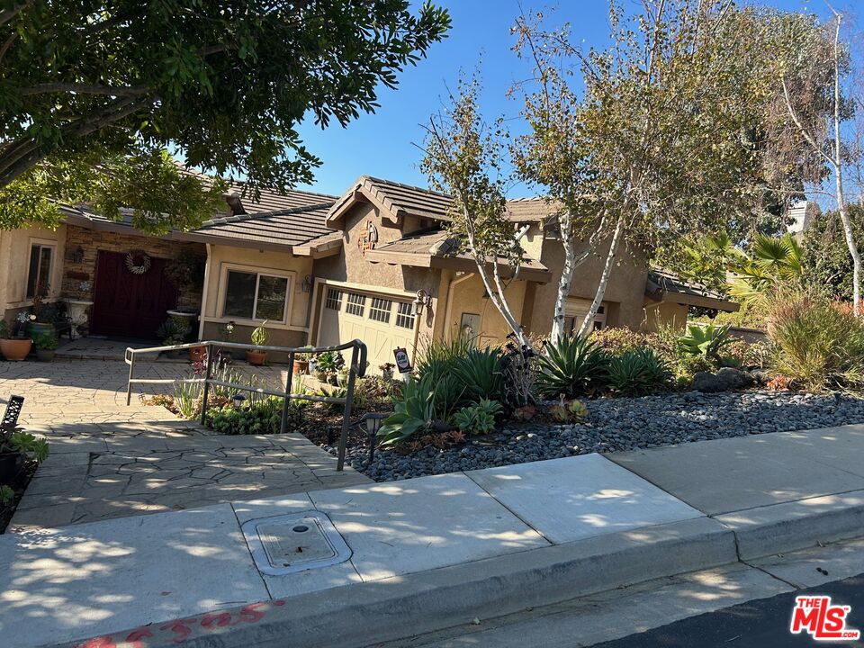
<instances>
[{"instance_id":1,"label":"tan flagstone walkway leading from sidewalk to front door","mask_svg":"<svg viewBox=\"0 0 864 648\"><path fill-rule=\"evenodd\" d=\"M138 367L141 377L175 378L189 365ZM22 395L21 425L50 445L8 531L370 482L338 473L336 458L301 435L214 435L141 402L164 385L141 385L127 407L127 375L114 360L0 362L0 409Z\"/></svg>"}]
</instances>

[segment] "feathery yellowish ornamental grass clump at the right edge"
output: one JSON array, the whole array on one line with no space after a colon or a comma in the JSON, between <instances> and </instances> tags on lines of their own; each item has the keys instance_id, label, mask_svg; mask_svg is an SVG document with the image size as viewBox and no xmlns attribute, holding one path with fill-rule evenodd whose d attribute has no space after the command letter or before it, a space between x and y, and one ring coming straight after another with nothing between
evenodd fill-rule
<instances>
[{"instance_id":1,"label":"feathery yellowish ornamental grass clump at the right edge","mask_svg":"<svg viewBox=\"0 0 864 648\"><path fill-rule=\"evenodd\" d=\"M807 390L864 389L864 322L815 293L784 293L771 306L771 368Z\"/></svg>"}]
</instances>

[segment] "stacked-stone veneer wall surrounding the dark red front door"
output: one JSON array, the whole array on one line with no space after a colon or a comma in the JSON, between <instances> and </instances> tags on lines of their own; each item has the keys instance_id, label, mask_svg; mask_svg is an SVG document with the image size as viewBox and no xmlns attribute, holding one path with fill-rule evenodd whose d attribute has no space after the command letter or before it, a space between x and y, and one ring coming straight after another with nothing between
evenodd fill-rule
<instances>
[{"instance_id":1,"label":"stacked-stone veneer wall surrounding the dark red front door","mask_svg":"<svg viewBox=\"0 0 864 648\"><path fill-rule=\"evenodd\" d=\"M84 250L84 259L80 263L75 262L78 247ZM202 243L117 234L67 225L66 255L63 259L62 294L64 297L93 300L96 257L99 250L122 253L143 250L150 257L166 259L176 258L181 253L194 254L200 257L207 256L206 247ZM202 287L194 291L181 291L177 295L177 308L184 311L200 312L201 294Z\"/></svg>"}]
</instances>

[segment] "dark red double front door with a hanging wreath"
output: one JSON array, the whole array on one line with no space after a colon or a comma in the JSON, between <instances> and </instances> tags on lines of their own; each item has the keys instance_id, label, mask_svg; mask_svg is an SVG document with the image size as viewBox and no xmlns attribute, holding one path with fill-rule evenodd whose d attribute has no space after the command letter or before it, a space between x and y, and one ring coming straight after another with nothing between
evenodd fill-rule
<instances>
[{"instance_id":1,"label":"dark red double front door with a hanging wreath","mask_svg":"<svg viewBox=\"0 0 864 648\"><path fill-rule=\"evenodd\" d=\"M166 259L151 257L149 270L135 275L126 255L99 250L93 298L94 335L155 339L156 329L176 307L177 292L166 279Z\"/></svg>"}]
</instances>

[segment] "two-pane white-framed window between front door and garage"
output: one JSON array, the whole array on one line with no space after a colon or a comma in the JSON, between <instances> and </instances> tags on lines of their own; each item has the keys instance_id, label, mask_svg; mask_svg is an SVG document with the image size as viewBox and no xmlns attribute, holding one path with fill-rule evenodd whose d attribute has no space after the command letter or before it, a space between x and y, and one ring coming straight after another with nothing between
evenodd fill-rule
<instances>
[{"instance_id":1,"label":"two-pane white-framed window between front door and garage","mask_svg":"<svg viewBox=\"0 0 864 648\"><path fill-rule=\"evenodd\" d=\"M287 276L229 270L222 317L284 322L289 285Z\"/></svg>"}]
</instances>

